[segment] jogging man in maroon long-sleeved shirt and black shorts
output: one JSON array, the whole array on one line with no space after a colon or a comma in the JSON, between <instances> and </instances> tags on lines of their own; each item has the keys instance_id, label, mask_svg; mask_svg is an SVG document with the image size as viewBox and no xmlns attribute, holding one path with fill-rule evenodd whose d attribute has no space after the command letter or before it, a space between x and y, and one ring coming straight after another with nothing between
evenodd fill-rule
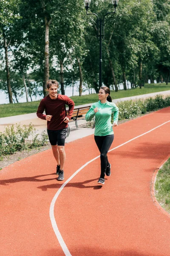
<instances>
[{"instance_id":1,"label":"jogging man in maroon long-sleeved shirt and black shorts","mask_svg":"<svg viewBox=\"0 0 170 256\"><path fill-rule=\"evenodd\" d=\"M57 161L56 175L64 180L65 137L68 122L74 110L74 102L68 96L57 93L59 84L56 80L47 81L48 95L41 100L37 116L47 120L47 133L53 155ZM68 114L65 105L68 105ZM43 114L45 110L45 115Z\"/></svg>"}]
</instances>

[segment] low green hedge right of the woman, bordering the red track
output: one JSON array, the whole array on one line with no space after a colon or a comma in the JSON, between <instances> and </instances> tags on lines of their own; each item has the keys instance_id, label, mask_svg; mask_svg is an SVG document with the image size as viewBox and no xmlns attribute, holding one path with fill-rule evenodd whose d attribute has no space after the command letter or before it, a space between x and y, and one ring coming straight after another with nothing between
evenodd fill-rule
<instances>
[{"instance_id":1,"label":"low green hedge right of the woman, bordering the red track","mask_svg":"<svg viewBox=\"0 0 170 256\"><path fill-rule=\"evenodd\" d=\"M136 101L119 102L119 119L129 119L136 115L156 111L168 106L170 106L170 96L163 99L161 95L157 95L155 98L145 99L144 101L139 99Z\"/></svg>"}]
</instances>

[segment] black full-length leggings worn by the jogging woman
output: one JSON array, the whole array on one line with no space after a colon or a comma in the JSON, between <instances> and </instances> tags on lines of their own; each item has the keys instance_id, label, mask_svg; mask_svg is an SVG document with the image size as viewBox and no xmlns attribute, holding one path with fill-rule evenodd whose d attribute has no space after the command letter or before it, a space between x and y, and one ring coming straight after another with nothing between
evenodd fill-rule
<instances>
[{"instance_id":1,"label":"black full-length leggings worn by the jogging woman","mask_svg":"<svg viewBox=\"0 0 170 256\"><path fill-rule=\"evenodd\" d=\"M94 136L94 140L100 151L100 160L101 160L100 178L104 179L106 168L109 165L107 154L114 140L114 134L106 135L106 136Z\"/></svg>"}]
</instances>

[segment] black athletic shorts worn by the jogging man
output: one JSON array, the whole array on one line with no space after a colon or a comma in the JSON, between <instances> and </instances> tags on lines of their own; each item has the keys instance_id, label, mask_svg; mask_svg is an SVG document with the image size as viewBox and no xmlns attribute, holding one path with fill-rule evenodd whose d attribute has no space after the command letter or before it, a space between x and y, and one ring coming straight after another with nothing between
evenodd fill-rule
<instances>
[{"instance_id":1,"label":"black athletic shorts worn by the jogging man","mask_svg":"<svg viewBox=\"0 0 170 256\"><path fill-rule=\"evenodd\" d=\"M53 131L53 130L48 130L48 138L52 146L58 145L58 146L64 146L65 145L65 137L67 134L67 129L64 128L61 130Z\"/></svg>"}]
</instances>

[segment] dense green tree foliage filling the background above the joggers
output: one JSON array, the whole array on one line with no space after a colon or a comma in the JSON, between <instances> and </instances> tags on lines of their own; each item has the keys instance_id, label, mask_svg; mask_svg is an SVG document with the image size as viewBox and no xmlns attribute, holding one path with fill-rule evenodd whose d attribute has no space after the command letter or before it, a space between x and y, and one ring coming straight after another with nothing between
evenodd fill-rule
<instances>
[{"instance_id":1,"label":"dense green tree foliage filling the background above the joggers","mask_svg":"<svg viewBox=\"0 0 170 256\"><path fill-rule=\"evenodd\" d=\"M88 9L88 13L96 13L99 18L113 11L111 0L93 0ZM17 96L24 92L19 76L22 78L23 73L26 76L30 70L36 82L33 88L26 81L30 98L36 96L36 89L42 90L44 55L47 54L44 52L45 20L50 21L50 79L71 86L81 77L85 85L97 93L97 19L86 15L83 0L1 0L0 73L5 73L3 39L6 38L7 45L10 43L13 100L17 102ZM102 81L106 86L113 88L113 84L122 82L125 86L126 80L132 87L143 85L148 79L170 80L170 0L121 0L116 14L105 16L104 32ZM2 76L0 74L0 87L7 92L6 75Z\"/></svg>"}]
</instances>

